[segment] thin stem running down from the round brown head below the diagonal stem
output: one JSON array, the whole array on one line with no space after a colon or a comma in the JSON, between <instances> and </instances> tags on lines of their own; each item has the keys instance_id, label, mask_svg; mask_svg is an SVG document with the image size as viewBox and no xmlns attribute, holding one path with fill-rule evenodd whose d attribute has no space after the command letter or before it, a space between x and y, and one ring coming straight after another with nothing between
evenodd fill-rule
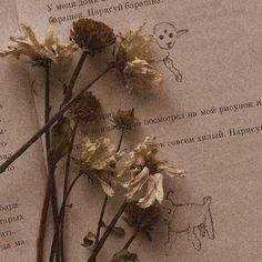
<instances>
[{"instance_id":1,"label":"thin stem running down from the round brown head below the diagonal stem","mask_svg":"<svg viewBox=\"0 0 262 262\"><path fill-rule=\"evenodd\" d=\"M66 199L67 192L68 192L71 154L72 154L72 151L73 151L73 143L74 143L74 140L75 140L78 125L79 125L79 121L77 121L74 123L74 127L73 127L72 138L71 138L70 148L69 148L68 158L67 158L67 163L66 163L66 173L64 173L64 181L63 181L63 199ZM66 218L66 209L64 209L64 211L62 212L62 215L61 215L61 232L60 232L61 262L64 262L64 244L63 244L64 243L64 239L63 239L64 218Z\"/></svg>"}]
</instances>

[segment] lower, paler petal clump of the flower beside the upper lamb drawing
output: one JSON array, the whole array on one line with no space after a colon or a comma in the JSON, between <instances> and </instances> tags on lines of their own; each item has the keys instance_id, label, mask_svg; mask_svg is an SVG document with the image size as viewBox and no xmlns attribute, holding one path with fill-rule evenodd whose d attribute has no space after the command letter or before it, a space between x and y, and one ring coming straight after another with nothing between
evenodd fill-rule
<instances>
[{"instance_id":1,"label":"lower, paler petal clump of the flower beside the upper lamb drawing","mask_svg":"<svg viewBox=\"0 0 262 262\"><path fill-rule=\"evenodd\" d=\"M123 82L128 90L144 90L158 85L162 74L154 70L145 60L135 59L128 62L123 70Z\"/></svg>"}]
</instances>

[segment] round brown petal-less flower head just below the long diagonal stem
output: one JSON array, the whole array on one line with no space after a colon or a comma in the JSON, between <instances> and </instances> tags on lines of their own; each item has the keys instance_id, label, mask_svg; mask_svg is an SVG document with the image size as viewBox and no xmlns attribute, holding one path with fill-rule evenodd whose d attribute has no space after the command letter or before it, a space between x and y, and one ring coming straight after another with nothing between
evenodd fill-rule
<instances>
[{"instance_id":1,"label":"round brown petal-less flower head just below the long diagonal stem","mask_svg":"<svg viewBox=\"0 0 262 262\"><path fill-rule=\"evenodd\" d=\"M95 122L101 114L101 104L92 92L80 97L71 108L71 115L77 121Z\"/></svg>"}]
</instances>

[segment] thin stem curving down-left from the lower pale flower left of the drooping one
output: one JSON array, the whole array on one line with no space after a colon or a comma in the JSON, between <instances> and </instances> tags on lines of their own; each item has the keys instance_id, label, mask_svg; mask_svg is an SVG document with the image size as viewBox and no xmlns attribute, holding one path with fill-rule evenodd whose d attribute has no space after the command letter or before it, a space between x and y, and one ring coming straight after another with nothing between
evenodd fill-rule
<instances>
[{"instance_id":1,"label":"thin stem curving down-left from the lower pale flower left of the drooping one","mask_svg":"<svg viewBox=\"0 0 262 262\"><path fill-rule=\"evenodd\" d=\"M62 218L62 213L64 212L64 209L67 206L67 201L68 198L74 187L74 184L78 182L78 180L83 175L84 173L80 173L78 174L78 177L74 178L74 180L72 181L72 183L70 184L68 192L66 194L66 198L63 199L59 215L58 215L58 220L57 220L57 224L56 224L56 229L54 229L54 234L53 234L53 240L52 240L52 246L51 246L51 253L50 253L50 262L53 262L54 259L54 254L56 254L56 243L57 243L57 239L59 238L59 229L60 229L60 223L61 223L61 218Z\"/></svg>"}]
</instances>

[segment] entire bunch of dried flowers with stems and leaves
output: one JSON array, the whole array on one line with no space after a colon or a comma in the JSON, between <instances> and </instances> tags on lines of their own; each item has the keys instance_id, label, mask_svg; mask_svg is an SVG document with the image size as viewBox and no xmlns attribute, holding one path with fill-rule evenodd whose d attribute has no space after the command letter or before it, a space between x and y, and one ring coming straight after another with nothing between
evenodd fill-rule
<instances>
[{"instance_id":1,"label":"entire bunch of dried flowers with stems and leaves","mask_svg":"<svg viewBox=\"0 0 262 262\"><path fill-rule=\"evenodd\" d=\"M145 92L161 83L162 74L154 68L152 57L153 38L143 33L143 27L117 36L111 27L92 19L74 21L68 43L54 37L52 26L43 39L38 39L30 27L22 24L21 30L23 36L11 37L10 40L13 44L0 52L0 57L26 58L26 61L32 66L44 69L44 125L0 165L0 173L23 154L41 135L46 134L49 177L39 226L37 261L43 261L43 243L50 200L52 200L54 233L49 261L66 261L66 208L70 193L83 175L87 175L93 182L92 184L98 184L98 189L101 189L104 194L97 233L89 232L82 244L85 248L92 246L89 262L97 261L98 254L112 232L122 236L125 234L124 229L117 226L123 213L125 214L124 221L134 229L134 233L113 255L112 262L137 261L138 255L130 252L129 248L140 233L151 240L150 232L161 216L161 205L165 194L164 179L167 177L171 179L183 177L185 171L159 159L154 137L147 137L129 153L121 152L124 134L132 131L135 121L134 109L118 110L113 114L112 121L121 131L117 144L105 137L91 140L79 127L90 125L100 118L102 104L95 94L88 90L109 71L115 70L123 87L130 92ZM81 52L81 56L71 73L70 81L63 84L64 92L60 101L60 110L52 112L53 117L50 117L52 68L58 67L62 59L70 61L69 58L77 50ZM74 88L78 84L79 75L84 70L87 59L105 50L110 50L112 53L110 60L104 60L107 68L89 84L75 92ZM105 58L108 59L108 56ZM80 149L74 150L79 132L83 139ZM59 191L56 190L54 173L56 167L64 158L67 161L62 203L59 204L56 198ZM72 182L70 183L70 181ZM105 223L108 202L114 201L117 198L122 198L123 202L113 219Z\"/></svg>"}]
</instances>

